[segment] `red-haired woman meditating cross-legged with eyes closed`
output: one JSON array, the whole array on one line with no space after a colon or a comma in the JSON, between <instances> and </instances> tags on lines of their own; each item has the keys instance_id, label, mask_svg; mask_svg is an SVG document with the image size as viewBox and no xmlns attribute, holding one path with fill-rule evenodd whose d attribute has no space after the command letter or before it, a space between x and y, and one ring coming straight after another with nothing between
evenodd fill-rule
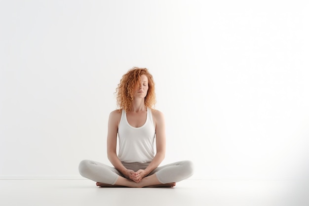
<instances>
[{"instance_id":1,"label":"red-haired woman meditating cross-legged with eyes closed","mask_svg":"<svg viewBox=\"0 0 309 206\"><path fill-rule=\"evenodd\" d=\"M173 187L190 177L191 161L158 167L165 156L165 123L163 114L152 109L154 81L148 70L129 70L116 93L120 109L111 112L107 134L108 159L114 167L83 160L78 167L81 176L96 181L100 187Z\"/></svg>"}]
</instances>

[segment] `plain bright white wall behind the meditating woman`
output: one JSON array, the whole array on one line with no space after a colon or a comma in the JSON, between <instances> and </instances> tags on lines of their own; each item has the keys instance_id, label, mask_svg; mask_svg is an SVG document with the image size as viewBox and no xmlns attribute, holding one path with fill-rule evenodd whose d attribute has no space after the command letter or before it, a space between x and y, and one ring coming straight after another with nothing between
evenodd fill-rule
<instances>
[{"instance_id":1,"label":"plain bright white wall behind the meditating woman","mask_svg":"<svg viewBox=\"0 0 309 206\"><path fill-rule=\"evenodd\" d=\"M304 1L0 2L0 178L81 178L108 163L113 92L156 82L167 157L193 179L296 178L308 158ZM308 159L307 159L308 161Z\"/></svg>"}]
</instances>

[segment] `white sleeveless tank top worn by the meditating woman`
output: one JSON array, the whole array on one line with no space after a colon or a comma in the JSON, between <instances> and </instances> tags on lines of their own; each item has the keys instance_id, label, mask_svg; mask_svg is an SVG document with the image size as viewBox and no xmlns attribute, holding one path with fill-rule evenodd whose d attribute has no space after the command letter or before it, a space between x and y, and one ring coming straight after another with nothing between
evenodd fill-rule
<instances>
[{"instance_id":1,"label":"white sleeveless tank top worn by the meditating woman","mask_svg":"<svg viewBox=\"0 0 309 206\"><path fill-rule=\"evenodd\" d=\"M150 163L154 159L154 121L151 109L147 108L147 118L140 127L131 126L122 110L118 126L118 158L123 163Z\"/></svg>"}]
</instances>

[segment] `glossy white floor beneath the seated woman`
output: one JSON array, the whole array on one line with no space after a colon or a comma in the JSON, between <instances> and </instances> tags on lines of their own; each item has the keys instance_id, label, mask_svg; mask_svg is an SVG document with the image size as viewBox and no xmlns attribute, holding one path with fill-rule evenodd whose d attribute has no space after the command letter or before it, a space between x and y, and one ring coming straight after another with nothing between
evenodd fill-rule
<instances>
[{"instance_id":1,"label":"glossy white floor beneath the seated woman","mask_svg":"<svg viewBox=\"0 0 309 206\"><path fill-rule=\"evenodd\" d=\"M305 188L290 181L184 180L174 188L99 188L82 179L0 179L0 206L309 206Z\"/></svg>"}]
</instances>

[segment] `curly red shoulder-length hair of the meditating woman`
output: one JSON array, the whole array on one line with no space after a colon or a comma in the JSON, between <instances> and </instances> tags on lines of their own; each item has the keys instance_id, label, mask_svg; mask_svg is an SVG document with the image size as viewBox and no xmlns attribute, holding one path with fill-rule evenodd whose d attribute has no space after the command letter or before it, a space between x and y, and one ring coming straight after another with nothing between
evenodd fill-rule
<instances>
[{"instance_id":1,"label":"curly red shoulder-length hair of the meditating woman","mask_svg":"<svg viewBox=\"0 0 309 206\"><path fill-rule=\"evenodd\" d=\"M145 97L145 106L153 108L155 104L154 79L146 68L133 67L122 76L118 87L116 88L117 105L120 109L129 111L133 102L134 88L140 84L141 75L148 78L148 92Z\"/></svg>"}]
</instances>

